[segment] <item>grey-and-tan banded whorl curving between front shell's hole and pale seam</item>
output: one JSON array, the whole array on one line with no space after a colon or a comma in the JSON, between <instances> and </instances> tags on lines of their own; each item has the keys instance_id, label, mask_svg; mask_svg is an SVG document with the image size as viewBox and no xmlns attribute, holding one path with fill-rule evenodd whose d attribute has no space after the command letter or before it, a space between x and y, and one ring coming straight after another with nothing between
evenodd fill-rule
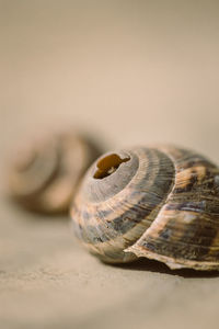
<instances>
[{"instance_id":1,"label":"grey-and-tan banded whorl curving between front shell's hole and pale seam","mask_svg":"<svg viewBox=\"0 0 219 329\"><path fill-rule=\"evenodd\" d=\"M139 148L128 155L130 158L137 156L140 162L125 189L102 202L93 202L83 193L87 191L85 178L71 209L77 236L91 252L111 262L125 261L123 250L131 246L150 226L154 212L159 212L174 180L173 163L163 152ZM123 163L123 171L126 166L128 162ZM91 172L92 168L88 175ZM111 179L113 175L116 178L116 174L119 175L119 169ZM95 181L92 183L95 184ZM102 200L100 194L99 198Z\"/></svg>"}]
</instances>

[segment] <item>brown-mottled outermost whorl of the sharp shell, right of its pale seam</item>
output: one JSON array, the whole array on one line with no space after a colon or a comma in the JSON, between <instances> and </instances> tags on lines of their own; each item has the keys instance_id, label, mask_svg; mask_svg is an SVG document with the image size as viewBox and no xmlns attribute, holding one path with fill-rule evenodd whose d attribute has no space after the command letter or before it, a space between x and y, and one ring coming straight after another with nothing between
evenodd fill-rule
<instances>
[{"instance_id":1,"label":"brown-mottled outermost whorl of the sharp shell, right of its pale seam","mask_svg":"<svg viewBox=\"0 0 219 329\"><path fill-rule=\"evenodd\" d=\"M173 266L219 269L219 170L187 150L163 148L173 159L175 185L157 218L130 248Z\"/></svg>"}]
</instances>

